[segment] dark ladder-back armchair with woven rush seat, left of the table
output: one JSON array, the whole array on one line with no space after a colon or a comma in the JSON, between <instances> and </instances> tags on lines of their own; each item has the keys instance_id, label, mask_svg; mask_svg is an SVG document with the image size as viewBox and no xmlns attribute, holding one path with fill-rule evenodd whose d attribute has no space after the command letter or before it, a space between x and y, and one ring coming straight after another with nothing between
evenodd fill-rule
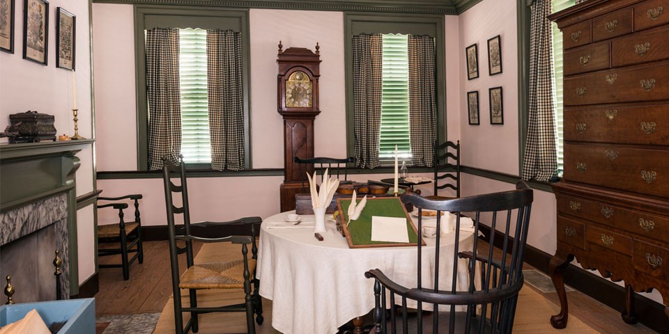
<instances>
[{"instance_id":1,"label":"dark ladder-back armchair with woven rush seat, left of the table","mask_svg":"<svg viewBox=\"0 0 669 334\"><path fill-rule=\"evenodd\" d=\"M256 323L263 323L262 303L258 294L259 281L256 280L256 258L258 248L256 246L255 225L262 223L260 217L240 218L236 221L190 223L190 211L188 207L188 188L185 164L183 156L179 158L178 164L164 161L162 170L165 190L165 205L167 207L167 232L169 236L169 259L171 264L172 292L174 293L174 323L176 333L187 333L198 331L198 315L209 312L246 312L247 331L255 333L254 313ZM171 173L176 173L180 184L174 184ZM180 201L174 200L174 193L180 194ZM177 202L182 203L177 206ZM176 225L176 216L182 217L183 225ZM250 225L251 236L229 235L215 237L211 235L211 228L226 225ZM241 252L238 260L208 262L194 264L193 241L205 243L231 242L240 244ZM177 241L185 242L185 246L178 246ZM248 256L248 246L251 245L251 258ZM185 253L187 269L180 275L178 255ZM252 292L251 284L254 285ZM181 301L181 289L188 289L190 306L183 307ZM217 308L203 308L197 306L197 290L199 289L243 289L245 303L226 305ZM190 320L183 325L183 312L190 312Z\"/></svg>"}]
</instances>

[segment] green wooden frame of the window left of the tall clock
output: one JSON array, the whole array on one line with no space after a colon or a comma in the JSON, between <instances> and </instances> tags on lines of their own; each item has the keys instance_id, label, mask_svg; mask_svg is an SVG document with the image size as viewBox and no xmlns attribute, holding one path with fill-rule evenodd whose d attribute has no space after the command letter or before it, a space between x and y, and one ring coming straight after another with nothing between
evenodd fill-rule
<instances>
[{"instance_id":1,"label":"green wooden frame of the window left of the tall clock","mask_svg":"<svg viewBox=\"0 0 669 334\"><path fill-rule=\"evenodd\" d=\"M244 106L244 168L251 160L251 86L249 11L216 7L134 6L135 84L137 88L137 170L148 170L148 110L146 102L146 45L144 30L153 27L232 29L241 33ZM189 170L212 170L210 163L189 163ZM224 171L220 173L235 173Z\"/></svg>"}]
</instances>

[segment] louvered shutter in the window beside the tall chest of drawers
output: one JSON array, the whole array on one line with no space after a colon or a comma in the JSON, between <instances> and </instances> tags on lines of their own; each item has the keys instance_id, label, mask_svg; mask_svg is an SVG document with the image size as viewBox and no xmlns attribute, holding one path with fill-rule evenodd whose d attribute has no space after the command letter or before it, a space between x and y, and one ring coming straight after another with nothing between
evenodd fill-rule
<instances>
[{"instance_id":1,"label":"louvered shutter in the window beside the tall chest of drawers","mask_svg":"<svg viewBox=\"0 0 669 334\"><path fill-rule=\"evenodd\" d=\"M553 0L553 13L574 6L576 0ZM557 125L557 173L562 177L564 171L564 93L562 65L562 32L553 22L553 63L555 64L555 124Z\"/></svg>"}]
</instances>

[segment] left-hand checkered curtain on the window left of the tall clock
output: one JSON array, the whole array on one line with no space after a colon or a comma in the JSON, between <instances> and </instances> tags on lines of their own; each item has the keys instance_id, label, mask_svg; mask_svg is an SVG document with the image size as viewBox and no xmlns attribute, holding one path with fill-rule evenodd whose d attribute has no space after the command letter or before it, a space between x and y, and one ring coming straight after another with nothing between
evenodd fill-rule
<instances>
[{"instance_id":1,"label":"left-hand checkered curtain on the window left of the tall clock","mask_svg":"<svg viewBox=\"0 0 669 334\"><path fill-rule=\"evenodd\" d=\"M146 97L148 102L148 169L162 169L167 157L181 154L179 31L146 31Z\"/></svg>"}]
</instances>

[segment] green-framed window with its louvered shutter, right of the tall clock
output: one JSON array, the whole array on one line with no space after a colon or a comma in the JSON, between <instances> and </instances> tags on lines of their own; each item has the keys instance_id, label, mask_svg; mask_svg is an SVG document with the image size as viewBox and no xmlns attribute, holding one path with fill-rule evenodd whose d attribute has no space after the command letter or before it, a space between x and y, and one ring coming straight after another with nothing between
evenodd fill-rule
<instances>
[{"instance_id":1,"label":"green-framed window with its louvered shutter, right of the tall clock","mask_svg":"<svg viewBox=\"0 0 669 334\"><path fill-rule=\"evenodd\" d=\"M394 149L397 145L400 159L407 159L414 161L419 166L425 165L426 161L433 159L432 154L426 153L425 150L420 152L411 152L411 127L410 127L410 81L415 77L410 77L410 66L408 54L412 47L409 45L410 36L422 36L431 38L430 44L434 48L433 61L424 61L422 63L430 63L434 67L429 72L434 72L433 79L430 84L424 82L418 83L416 86L426 87L434 85L431 89L433 93L424 93L428 89L420 90L420 93L415 93L415 96L431 95L429 103L433 102L434 113L431 115L433 125L430 129L426 129L424 138L433 138L434 140L444 141L445 133L445 90L444 90L444 28L443 15L413 15L413 14L378 14L378 13L345 13L344 14L344 35L346 40L344 42L345 60L346 60L346 138L348 156L356 158L357 166L362 168L375 168L385 164L391 164L394 158ZM367 84L360 84L353 82L354 77L354 60L353 55L356 51L356 46L353 42L358 38L357 36L364 34L380 34L383 42L381 49L383 50L382 58L382 82L381 87L378 88L380 92L380 126L379 121L374 116L372 122L374 128L380 127L378 136L374 134L367 136L365 140L371 141L367 138L377 138L378 140L378 156L376 156L371 149L371 145L364 147L365 162L369 164L360 164L358 157L356 157L356 150L360 153L360 147L356 147L356 130L355 127L364 127L368 129L367 125L362 125L360 122L356 124L356 118L360 120L360 115L356 115L355 110L359 110L360 106L355 104L357 92L354 86L367 86ZM418 43L418 42L416 42ZM360 59L359 57L356 59ZM420 61L419 61L420 62ZM420 71L424 68L420 67ZM376 72L378 73L378 72ZM413 82L413 81L411 81ZM415 87L415 86L414 86ZM375 88L376 89L376 88ZM416 89L416 88L414 88ZM378 92L378 90L376 90ZM375 96L378 93L374 93ZM360 95L357 95L357 101L369 101L368 97L363 97L360 100ZM376 107L375 107L376 108ZM378 109L375 109L378 110ZM412 110L413 112L413 110ZM412 116L413 117L413 116ZM420 127L420 122L426 122L426 116L420 116L418 122L415 122L415 127ZM415 132L415 131L414 131ZM360 132L358 132L360 134ZM417 132L415 132L417 133ZM415 136L415 134L414 134ZM431 140L431 139L430 139ZM414 140L414 145L419 145L421 148L427 146L425 140L420 144ZM360 144L358 144L360 145ZM429 144L433 148L433 142ZM431 164L431 162L428 162Z\"/></svg>"}]
</instances>

